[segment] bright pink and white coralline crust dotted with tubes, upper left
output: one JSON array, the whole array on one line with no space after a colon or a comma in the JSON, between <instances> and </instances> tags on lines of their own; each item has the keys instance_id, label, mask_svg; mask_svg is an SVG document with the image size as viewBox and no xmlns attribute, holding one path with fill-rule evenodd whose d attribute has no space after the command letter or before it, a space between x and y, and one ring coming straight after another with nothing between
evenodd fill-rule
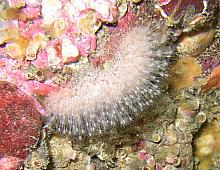
<instances>
[{"instance_id":1,"label":"bright pink and white coralline crust dotted with tubes, upper left","mask_svg":"<svg viewBox=\"0 0 220 170\"><path fill-rule=\"evenodd\" d=\"M121 19L127 6L122 0L1 1L0 63L5 64L0 66L0 80L31 95L54 91L68 78L52 70L62 72L94 53L97 31ZM46 70L47 76L40 80L25 76L30 67Z\"/></svg>"}]
</instances>

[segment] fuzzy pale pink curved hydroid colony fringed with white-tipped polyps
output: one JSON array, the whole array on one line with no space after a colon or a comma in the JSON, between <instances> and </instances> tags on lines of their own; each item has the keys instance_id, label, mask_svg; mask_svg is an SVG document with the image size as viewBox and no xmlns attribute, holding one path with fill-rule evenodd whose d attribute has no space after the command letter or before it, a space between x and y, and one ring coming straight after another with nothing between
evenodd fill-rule
<instances>
[{"instance_id":1,"label":"fuzzy pale pink curved hydroid colony fringed with white-tipped polyps","mask_svg":"<svg viewBox=\"0 0 220 170\"><path fill-rule=\"evenodd\" d=\"M56 131L82 137L125 125L160 93L169 50L151 27L126 32L106 69L90 68L50 94L46 109Z\"/></svg>"}]
</instances>

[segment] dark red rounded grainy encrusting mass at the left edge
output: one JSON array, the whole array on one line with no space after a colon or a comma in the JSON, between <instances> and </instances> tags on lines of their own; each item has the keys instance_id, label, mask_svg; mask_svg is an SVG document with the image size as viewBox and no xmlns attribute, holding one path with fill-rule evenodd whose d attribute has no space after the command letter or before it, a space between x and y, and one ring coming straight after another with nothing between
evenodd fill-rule
<instances>
[{"instance_id":1,"label":"dark red rounded grainy encrusting mass at the left edge","mask_svg":"<svg viewBox=\"0 0 220 170\"><path fill-rule=\"evenodd\" d=\"M16 169L40 135L42 108L15 85L0 82L0 169ZM1 170L3 170L1 169Z\"/></svg>"}]
</instances>

